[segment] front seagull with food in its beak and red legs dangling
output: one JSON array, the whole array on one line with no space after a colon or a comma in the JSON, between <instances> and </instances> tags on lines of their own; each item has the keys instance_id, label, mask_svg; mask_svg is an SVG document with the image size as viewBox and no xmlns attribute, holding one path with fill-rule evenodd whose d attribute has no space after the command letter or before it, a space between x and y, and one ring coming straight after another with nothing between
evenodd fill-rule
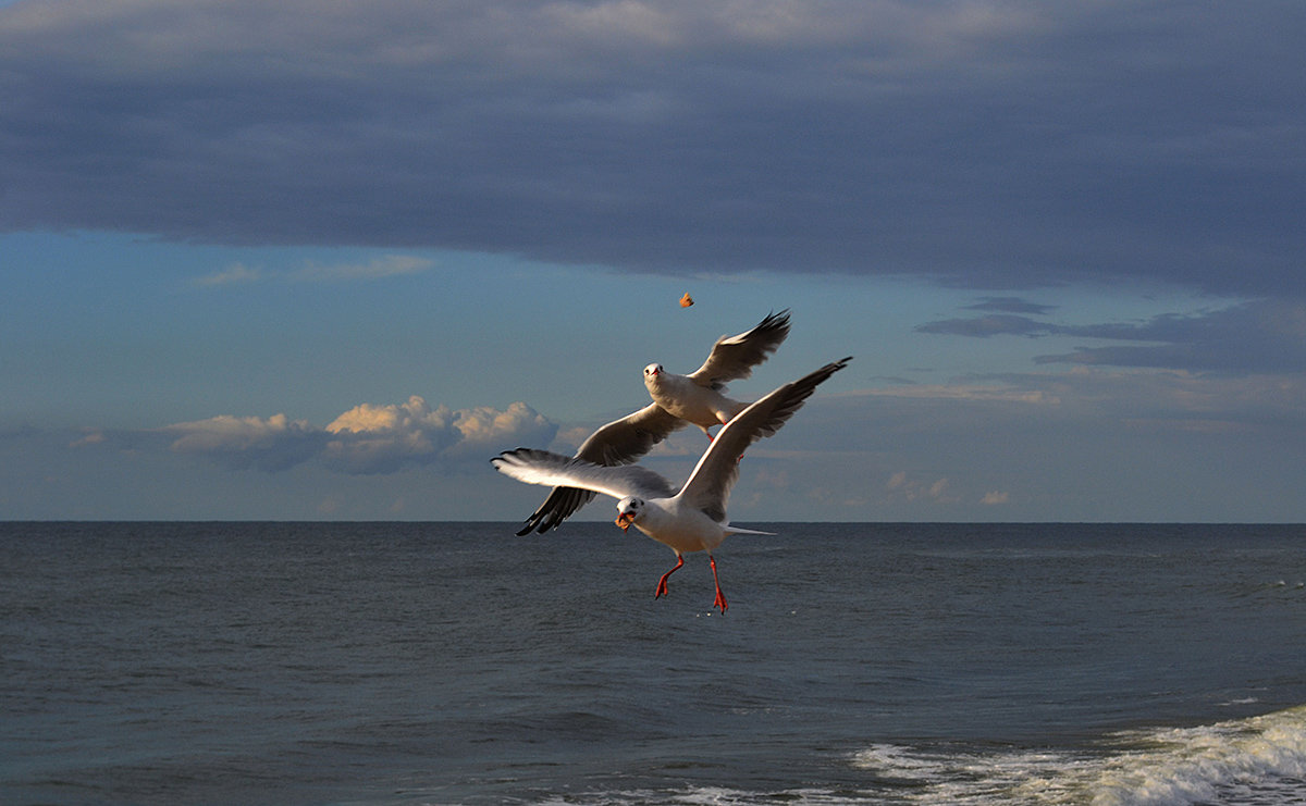
<instances>
[{"instance_id":1,"label":"front seagull with food in its beak and red legs dangling","mask_svg":"<svg viewBox=\"0 0 1306 806\"><path fill-rule=\"evenodd\" d=\"M658 599L666 593L666 578L684 565L684 552L707 552L712 580L717 587L713 606L725 613L726 597L717 578L717 561L712 549L727 535L769 535L730 526L726 501L739 477L739 459L744 449L774 434L795 411L802 408L816 386L844 369L852 356L827 364L816 372L785 383L756 403L730 417L708 450L699 459L690 480L679 492L660 473L639 464L602 466L575 456L518 447L490 460L495 470L526 484L565 485L616 498L616 526L623 531L635 526L653 540L675 552L675 567L657 583Z\"/></svg>"}]
</instances>

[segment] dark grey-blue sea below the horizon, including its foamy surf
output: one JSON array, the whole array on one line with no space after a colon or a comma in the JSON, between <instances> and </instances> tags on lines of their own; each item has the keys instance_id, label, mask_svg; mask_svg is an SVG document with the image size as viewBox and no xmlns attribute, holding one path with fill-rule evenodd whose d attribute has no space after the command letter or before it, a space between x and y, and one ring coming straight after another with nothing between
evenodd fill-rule
<instances>
[{"instance_id":1,"label":"dark grey-blue sea below the horizon, including its foamy surf","mask_svg":"<svg viewBox=\"0 0 1306 806\"><path fill-rule=\"evenodd\" d=\"M0 524L0 802L1306 803L1306 527Z\"/></svg>"}]
</instances>

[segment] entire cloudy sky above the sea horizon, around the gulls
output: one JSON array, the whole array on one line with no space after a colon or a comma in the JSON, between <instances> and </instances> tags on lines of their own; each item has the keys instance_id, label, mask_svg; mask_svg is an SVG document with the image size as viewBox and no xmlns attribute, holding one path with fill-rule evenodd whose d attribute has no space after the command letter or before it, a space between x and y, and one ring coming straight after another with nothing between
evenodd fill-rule
<instances>
[{"instance_id":1,"label":"entire cloudy sky above the sea horizon, around the gulls","mask_svg":"<svg viewBox=\"0 0 1306 806\"><path fill-rule=\"evenodd\" d=\"M0 1L0 519L517 522L547 490L491 456L789 309L734 396L854 360L735 523L1306 522L1303 38L1296 0Z\"/></svg>"}]
</instances>

